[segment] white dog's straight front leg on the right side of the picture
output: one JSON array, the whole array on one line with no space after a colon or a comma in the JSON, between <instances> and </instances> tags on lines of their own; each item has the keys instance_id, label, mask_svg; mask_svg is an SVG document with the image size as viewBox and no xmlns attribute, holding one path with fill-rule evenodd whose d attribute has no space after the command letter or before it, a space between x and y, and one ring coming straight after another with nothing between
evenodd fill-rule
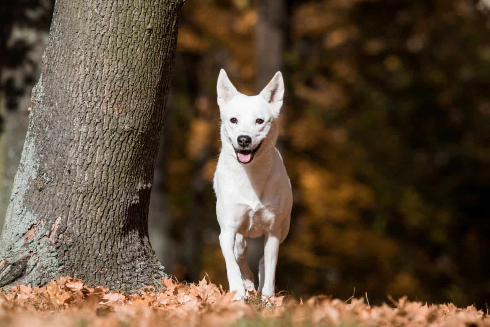
<instances>
[{"instance_id":1,"label":"white dog's straight front leg on the right side of the picture","mask_svg":"<svg viewBox=\"0 0 490 327\"><path fill-rule=\"evenodd\" d=\"M264 287L262 296L269 297L275 293L275 270L277 265L277 256L279 255L279 237L280 230L265 233L264 247Z\"/></svg>"}]
</instances>

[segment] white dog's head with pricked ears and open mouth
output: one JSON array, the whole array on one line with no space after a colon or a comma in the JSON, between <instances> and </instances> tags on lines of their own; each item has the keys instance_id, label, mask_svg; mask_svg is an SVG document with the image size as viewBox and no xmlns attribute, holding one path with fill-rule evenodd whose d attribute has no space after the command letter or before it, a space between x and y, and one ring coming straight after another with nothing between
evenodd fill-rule
<instances>
[{"instance_id":1,"label":"white dog's head with pricked ears and open mouth","mask_svg":"<svg viewBox=\"0 0 490 327\"><path fill-rule=\"evenodd\" d=\"M250 163L279 117L284 95L280 71L258 95L237 91L226 72L218 76L221 141L229 141L240 163Z\"/></svg>"}]
</instances>

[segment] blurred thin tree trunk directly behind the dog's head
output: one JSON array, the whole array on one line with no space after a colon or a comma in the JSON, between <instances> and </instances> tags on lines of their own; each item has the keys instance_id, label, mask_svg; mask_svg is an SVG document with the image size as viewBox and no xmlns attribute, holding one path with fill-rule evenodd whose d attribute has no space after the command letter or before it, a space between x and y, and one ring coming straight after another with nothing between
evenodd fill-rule
<instances>
[{"instance_id":1,"label":"blurred thin tree trunk directly behind the dog's head","mask_svg":"<svg viewBox=\"0 0 490 327\"><path fill-rule=\"evenodd\" d=\"M278 70L283 69L284 42L286 35L286 3L284 0L261 0L258 4L259 18L255 26L255 61L257 93L269 83ZM276 147L281 151L281 140ZM264 255L264 237L251 238L248 242L248 261L258 282L259 260Z\"/></svg>"}]
</instances>

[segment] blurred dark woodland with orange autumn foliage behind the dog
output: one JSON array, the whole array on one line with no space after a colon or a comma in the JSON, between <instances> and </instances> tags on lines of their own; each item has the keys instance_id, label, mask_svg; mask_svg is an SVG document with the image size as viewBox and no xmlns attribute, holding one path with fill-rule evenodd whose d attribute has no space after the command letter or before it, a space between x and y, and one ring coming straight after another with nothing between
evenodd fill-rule
<instances>
[{"instance_id":1,"label":"blurred dark woodland with orange autumn foliage behind the dog","mask_svg":"<svg viewBox=\"0 0 490 327\"><path fill-rule=\"evenodd\" d=\"M12 8L21 14L3 20L2 108L16 94L7 82L11 62L27 58L10 54L8 40L29 21L25 13L48 3L20 1ZM347 299L356 287L374 303L390 294L483 308L490 298L483 4L187 0L150 204L150 237L167 272L227 285L211 187L220 148L216 78L223 67L253 94L281 69L279 146L295 202L279 290ZM27 106L3 109L4 121ZM14 147L6 144L5 154Z\"/></svg>"}]
</instances>

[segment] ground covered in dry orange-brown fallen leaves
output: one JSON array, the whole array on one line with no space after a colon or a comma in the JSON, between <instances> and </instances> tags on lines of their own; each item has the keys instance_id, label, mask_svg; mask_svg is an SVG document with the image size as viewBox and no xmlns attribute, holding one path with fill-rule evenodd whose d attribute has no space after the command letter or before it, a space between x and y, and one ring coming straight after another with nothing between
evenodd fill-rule
<instances>
[{"instance_id":1,"label":"ground covered in dry orange-brown fallen leaves","mask_svg":"<svg viewBox=\"0 0 490 327\"><path fill-rule=\"evenodd\" d=\"M126 294L58 278L41 288L16 285L0 293L0 326L5 327L159 327L159 326L488 326L487 313L474 306L427 305L401 298L370 306L365 299L327 296L296 300L287 296L232 302L231 295L207 280L198 284L162 280Z\"/></svg>"}]
</instances>

